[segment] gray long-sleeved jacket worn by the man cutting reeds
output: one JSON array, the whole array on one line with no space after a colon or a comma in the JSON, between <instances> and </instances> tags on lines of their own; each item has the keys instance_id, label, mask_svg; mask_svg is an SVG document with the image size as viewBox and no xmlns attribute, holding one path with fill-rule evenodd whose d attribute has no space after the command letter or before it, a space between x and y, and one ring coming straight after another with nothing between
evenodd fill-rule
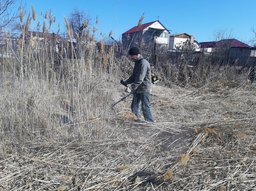
<instances>
[{"instance_id":1,"label":"gray long-sleeved jacket worn by the man cutting reeds","mask_svg":"<svg viewBox=\"0 0 256 191\"><path fill-rule=\"evenodd\" d=\"M124 83L132 83L129 88L135 93L149 92L151 89L151 69L148 61L140 56L135 62L132 75Z\"/></svg>"}]
</instances>

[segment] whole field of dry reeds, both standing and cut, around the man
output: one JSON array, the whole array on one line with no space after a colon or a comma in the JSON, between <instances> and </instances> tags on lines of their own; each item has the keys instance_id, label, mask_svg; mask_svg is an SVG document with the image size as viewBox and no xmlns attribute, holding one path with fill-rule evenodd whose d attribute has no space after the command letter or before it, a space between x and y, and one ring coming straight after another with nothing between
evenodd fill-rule
<instances>
[{"instance_id":1,"label":"whole field of dry reeds, both standing and cut, around the man","mask_svg":"<svg viewBox=\"0 0 256 191\"><path fill-rule=\"evenodd\" d=\"M0 65L0 191L256 190L256 84L245 74L165 60L156 122L137 122L131 96L109 108L125 96L126 57L92 43L63 58L30 42L7 47Z\"/></svg>"}]
</instances>

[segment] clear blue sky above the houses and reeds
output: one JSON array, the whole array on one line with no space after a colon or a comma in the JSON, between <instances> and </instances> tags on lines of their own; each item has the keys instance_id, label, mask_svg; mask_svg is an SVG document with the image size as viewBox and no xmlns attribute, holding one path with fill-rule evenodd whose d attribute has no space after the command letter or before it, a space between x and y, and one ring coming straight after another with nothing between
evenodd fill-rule
<instances>
[{"instance_id":1,"label":"clear blue sky above the houses and reeds","mask_svg":"<svg viewBox=\"0 0 256 191\"><path fill-rule=\"evenodd\" d=\"M25 0L27 11L31 5L37 13L37 22L43 21L46 11L51 9L56 17L52 32L57 32L60 23L65 31L64 16L68 17L74 8L87 13L100 32L120 39L123 32L138 24L145 13L142 24L158 20L171 34L188 33L198 42L214 40L214 32L226 30L233 38L248 42L255 35L256 0ZM95 23L95 22L94 22Z\"/></svg>"}]
</instances>

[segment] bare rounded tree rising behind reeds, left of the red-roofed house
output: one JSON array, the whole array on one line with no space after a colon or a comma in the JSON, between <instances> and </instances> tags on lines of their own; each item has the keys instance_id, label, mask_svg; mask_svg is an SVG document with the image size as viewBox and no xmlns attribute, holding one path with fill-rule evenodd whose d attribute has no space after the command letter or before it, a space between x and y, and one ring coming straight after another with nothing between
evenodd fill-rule
<instances>
[{"instance_id":1,"label":"bare rounded tree rising behind reeds, left of the red-roofed house","mask_svg":"<svg viewBox=\"0 0 256 191\"><path fill-rule=\"evenodd\" d=\"M76 38L81 38L84 29L89 25L91 17L82 9L74 8L69 14L68 22Z\"/></svg>"}]
</instances>

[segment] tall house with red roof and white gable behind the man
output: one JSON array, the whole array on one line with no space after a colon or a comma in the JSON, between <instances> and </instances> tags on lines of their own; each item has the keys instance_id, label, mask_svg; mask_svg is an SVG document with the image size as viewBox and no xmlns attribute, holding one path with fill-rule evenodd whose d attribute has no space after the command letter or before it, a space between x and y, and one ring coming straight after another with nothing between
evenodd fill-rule
<instances>
[{"instance_id":1,"label":"tall house with red roof and white gable behind the man","mask_svg":"<svg viewBox=\"0 0 256 191\"><path fill-rule=\"evenodd\" d=\"M167 49L169 43L170 32L165 28L159 20L149 22L143 25L134 26L128 31L122 33L122 45L125 49L137 46L145 47L147 50L154 49L157 45L158 49Z\"/></svg>"}]
</instances>

